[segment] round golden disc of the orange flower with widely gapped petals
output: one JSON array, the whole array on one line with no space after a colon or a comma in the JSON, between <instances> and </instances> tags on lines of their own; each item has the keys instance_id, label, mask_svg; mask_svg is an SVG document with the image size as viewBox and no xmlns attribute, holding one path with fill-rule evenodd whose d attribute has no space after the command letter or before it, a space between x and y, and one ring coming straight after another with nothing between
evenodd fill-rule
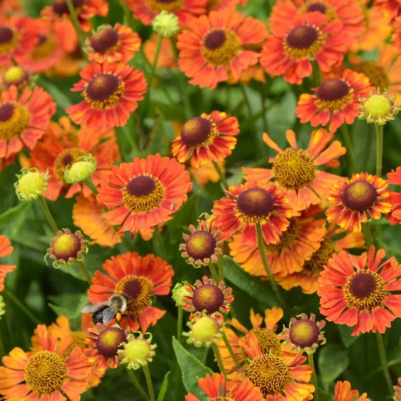
<instances>
[{"instance_id":1,"label":"round golden disc of the orange flower with widely gapped petals","mask_svg":"<svg viewBox=\"0 0 401 401\"><path fill-rule=\"evenodd\" d=\"M308 151L289 147L276 155L273 172L281 186L300 189L315 178L315 164Z\"/></svg>"}]
</instances>

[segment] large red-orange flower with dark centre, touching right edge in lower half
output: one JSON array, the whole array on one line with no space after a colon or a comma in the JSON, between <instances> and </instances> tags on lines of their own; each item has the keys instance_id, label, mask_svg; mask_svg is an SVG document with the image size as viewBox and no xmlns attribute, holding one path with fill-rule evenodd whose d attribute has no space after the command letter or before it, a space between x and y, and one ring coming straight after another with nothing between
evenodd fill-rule
<instances>
[{"instance_id":1,"label":"large red-orange flower with dark centre, touching right edge in lower half","mask_svg":"<svg viewBox=\"0 0 401 401\"><path fill-rule=\"evenodd\" d=\"M340 251L320 273L320 313L329 322L353 327L352 335L369 331L384 333L396 317L401 317L401 266L391 257L381 262L383 249L375 255L353 256Z\"/></svg>"}]
</instances>

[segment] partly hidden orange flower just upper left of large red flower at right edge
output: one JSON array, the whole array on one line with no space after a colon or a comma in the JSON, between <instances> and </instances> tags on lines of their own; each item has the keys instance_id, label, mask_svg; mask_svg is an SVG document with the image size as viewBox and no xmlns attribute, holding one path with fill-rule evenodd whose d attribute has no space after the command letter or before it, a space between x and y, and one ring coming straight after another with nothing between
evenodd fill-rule
<instances>
[{"instance_id":1,"label":"partly hidden orange flower just upper left of large red flower at right edge","mask_svg":"<svg viewBox=\"0 0 401 401\"><path fill-rule=\"evenodd\" d=\"M319 249L309 260L305 261L302 270L286 277L276 276L277 282L286 290L299 286L304 294L315 293L320 287L318 282L320 272L324 270L324 266L327 265L333 254L337 255L343 249L365 248L365 239L362 233L348 233L341 239L332 239L343 232L344 230L341 228L335 230L335 225L331 224L323 241L317 244Z\"/></svg>"}]
</instances>

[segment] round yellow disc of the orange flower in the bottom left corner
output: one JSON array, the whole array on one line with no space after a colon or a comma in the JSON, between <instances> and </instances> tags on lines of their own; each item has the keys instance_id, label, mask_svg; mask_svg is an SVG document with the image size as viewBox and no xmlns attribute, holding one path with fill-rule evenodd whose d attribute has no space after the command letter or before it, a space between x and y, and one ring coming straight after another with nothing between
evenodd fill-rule
<instances>
[{"instance_id":1,"label":"round yellow disc of the orange flower in the bottom left corner","mask_svg":"<svg viewBox=\"0 0 401 401\"><path fill-rule=\"evenodd\" d=\"M40 351L32 355L25 367L25 381L34 392L52 394L63 384L67 374L64 360L54 352Z\"/></svg>"}]
</instances>

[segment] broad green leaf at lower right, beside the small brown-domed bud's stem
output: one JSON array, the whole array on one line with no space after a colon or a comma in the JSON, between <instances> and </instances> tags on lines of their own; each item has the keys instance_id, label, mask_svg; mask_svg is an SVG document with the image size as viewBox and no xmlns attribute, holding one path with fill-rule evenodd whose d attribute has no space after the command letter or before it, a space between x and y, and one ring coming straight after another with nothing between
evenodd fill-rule
<instances>
[{"instance_id":1,"label":"broad green leaf at lower right, beside the small brown-domed bud's stem","mask_svg":"<svg viewBox=\"0 0 401 401\"><path fill-rule=\"evenodd\" d=\"M338 344L325 345L319 354L319 372L325 389L349 365L348 350Z\"/></svg>"}]
</instances>

